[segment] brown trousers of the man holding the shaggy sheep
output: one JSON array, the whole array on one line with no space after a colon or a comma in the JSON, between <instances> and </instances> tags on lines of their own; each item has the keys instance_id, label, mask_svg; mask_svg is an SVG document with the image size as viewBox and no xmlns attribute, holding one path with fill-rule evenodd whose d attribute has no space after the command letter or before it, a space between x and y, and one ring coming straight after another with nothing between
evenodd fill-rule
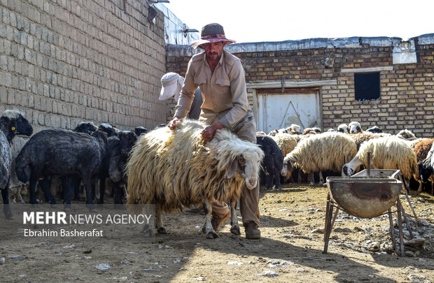
<instances>
[{"instance_id":1,"label":"brown trousers of the man holding the shaggy sheep","mask_svg":"<svg viewBox=\"0 0 434 283\"><path fill-rule=\"evenodd\" d=\"M251 143L256 143L256 123L253 118L251 110L248 111L246 116L238 122L233 131L241 140L247 140ZM226 203L215 201L211 204L212 214L214 217L223 218L229 211ZM255 222L260 226L260 214L259 214L259 180L254 189L247 189L244 185L239 199L239 211L241 212L241 218L243 224L246 222Z\"/></svg>"}]
</instances>

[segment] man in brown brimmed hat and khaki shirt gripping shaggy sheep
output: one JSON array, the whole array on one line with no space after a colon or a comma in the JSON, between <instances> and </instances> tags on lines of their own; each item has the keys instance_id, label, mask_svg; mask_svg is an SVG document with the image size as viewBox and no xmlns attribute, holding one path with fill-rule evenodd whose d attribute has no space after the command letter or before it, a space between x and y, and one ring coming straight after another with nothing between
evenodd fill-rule
<instances>
[{"instance_id":1,"label":"man in brown brimmed hat and khaki shirt gripping shaggy sheep","mask_svg":"<svg viewBox=\"0 0 434 283\"><path fill-rule=\"evenodd\" d=\"M176 122L186 117L193 101L193 93L200 87L204 103L199 120L209 125L202 131L204 143L208 143L216 130L230 129L242 140L256 142L256 124L253 112L248 106L246 81L241 60L223 47L235 43L225 37L220 24L207 24L202 28L201 39L192 43L193 48L204 52L193 56L188 62L186 79L181 89L175 115L169 128L174 129ZM259 182L255 189L244 187L239 201L246 238L260 238L259 222ZM230 217L228 205L215 202L212 205L214 230Z\"/></svg>"}]
</instances>

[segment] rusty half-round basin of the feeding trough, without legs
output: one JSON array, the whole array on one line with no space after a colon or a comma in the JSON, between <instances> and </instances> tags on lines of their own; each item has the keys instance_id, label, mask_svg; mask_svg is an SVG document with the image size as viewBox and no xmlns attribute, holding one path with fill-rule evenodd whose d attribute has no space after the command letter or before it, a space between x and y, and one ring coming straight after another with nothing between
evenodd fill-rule
<instances>
[{"instance_id":1,"label":"rusty half-round basin of the feeding trough, without legs","mask_svg":"<svg viewBox=\"0 0 434 283\"><path fill-rule=\"evenodd\" d=\"M398 201L402 182L393 177L327 177L333 200L347 213L371 218L382 215Z\"/></svg>"}]
</instances>

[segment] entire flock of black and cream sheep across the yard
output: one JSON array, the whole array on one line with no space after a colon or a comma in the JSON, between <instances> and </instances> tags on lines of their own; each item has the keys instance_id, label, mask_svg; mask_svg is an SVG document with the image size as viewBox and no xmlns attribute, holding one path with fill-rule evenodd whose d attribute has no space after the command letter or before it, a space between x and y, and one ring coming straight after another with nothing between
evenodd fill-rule
<instances>
[{"instance_id":1,"label":"entire flock of black and cream sheep across the yard","mask_svg":"<svg viewBox=\"0 0 434 283\"><path fill-rule=\"evenodd\" d=\"M117 131L109 124L82 122L73 131L46 129L31 136L33 129L27 119L18 111L6 110L0 118L4 213L12 217L8 206L11 170L18 180L29 182L31 204L37 203L36 183L46 200L55 203L50 189L54 176L61 177L65 208L70 207L71 199L79 198L80 183L90 210L95 210L94 199L104 203L106 180L113 185L116 204L123 203L126 185L130 212L139 213L143 205L155 204L158 233L166 233L162 212L203 205L207 238L217 237L211 225L211 202L230 202L230 231L239 235L235 206L244 185L253 189L261 180L267 188L273 182L279 187L281 176L285 181L300 182L302 173L308 174L311 184L314 173L319 174L321 183L325 172L353 175L367 166L367 152L372 153L371 168L399 169L407 186L411 178L419 182L418 191L423 182L433 183L434 138L416 138L408 130L392 135L374 126L363 131L358 122L351 122L336 131L322 133L312 128L302 132L293 124L268 135L258 132L257 144L240 140L227 129L217 131L214 139L204 144L200 135L204 126L184 119L175 130L160 125L149 132L143 127ZM11 168L10 145L15 135L31 138ZM94 189L95 180L99 180L99 191ZM147 230L151 228L145 227Z\"/></svg>"}]
</instances>

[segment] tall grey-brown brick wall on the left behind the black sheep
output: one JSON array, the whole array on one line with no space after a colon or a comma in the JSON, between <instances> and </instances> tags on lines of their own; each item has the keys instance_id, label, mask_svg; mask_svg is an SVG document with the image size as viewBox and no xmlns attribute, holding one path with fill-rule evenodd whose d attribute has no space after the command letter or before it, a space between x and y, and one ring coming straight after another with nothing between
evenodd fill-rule
<instances>
[{"instance_id":1,"label":"tall grey-brown brick wall on the left behind the black sheep","mask_svg":"<svg viewBox=\"0 0 434 283\"><path fill-rule=\"evenodd\" d=\"M35 131L166 121L164 17L140 0L0 0L0 111Z\"/></svg>"}]
</instances>

